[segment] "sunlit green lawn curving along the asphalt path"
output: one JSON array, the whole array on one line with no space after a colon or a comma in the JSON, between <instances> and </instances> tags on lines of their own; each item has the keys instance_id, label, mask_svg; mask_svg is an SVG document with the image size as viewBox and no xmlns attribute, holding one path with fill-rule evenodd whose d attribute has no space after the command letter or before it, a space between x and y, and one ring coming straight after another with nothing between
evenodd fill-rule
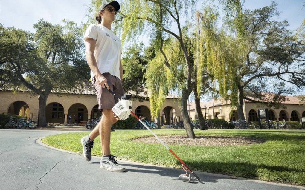
<instances>
[{"instance_id":1,"label":"sunlit green lawn curving along the asphalt path","mask_svg":"<svg viewBox=\"0 0 305 190\"><path fill-rule=\"evenodd\" d=\"M153 130L157 135L186 134L185 130ZM168 145L192 170L239 177L305 185L304 130L194 130L196 135L247 136L264 143L243 146ZM82 154L81 137L89 132L47 136L42 142ZM119 159L181 168L181 164L160 143L131 141L152 136L147 130L116 130L111 133L111 153ZM101 156L99 137L92 155Z\"/></svg>"}]
</instances>

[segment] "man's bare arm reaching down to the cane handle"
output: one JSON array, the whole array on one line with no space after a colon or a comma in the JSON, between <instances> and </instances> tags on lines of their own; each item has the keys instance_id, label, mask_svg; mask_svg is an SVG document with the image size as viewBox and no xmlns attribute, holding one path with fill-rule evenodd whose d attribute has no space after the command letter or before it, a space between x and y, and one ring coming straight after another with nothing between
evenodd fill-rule
<instances>
[{"instance_id":1,"label":"man's bare arm reaching down to the cane handle","mask_svg":"<svg viewBox=\"0 0 305 190\"><path fill-rule=\"evenodd\" d=\"M109 89L107 79L99 71L99 68L97 67L97 63L93 54L95 49L95 43L96 41L94 39L85 38L85 52L86 52L87 63L91 71L93 72L98 84L101 85L103 88L106 85L106 87Z\"/></svg>"}]
</instances>

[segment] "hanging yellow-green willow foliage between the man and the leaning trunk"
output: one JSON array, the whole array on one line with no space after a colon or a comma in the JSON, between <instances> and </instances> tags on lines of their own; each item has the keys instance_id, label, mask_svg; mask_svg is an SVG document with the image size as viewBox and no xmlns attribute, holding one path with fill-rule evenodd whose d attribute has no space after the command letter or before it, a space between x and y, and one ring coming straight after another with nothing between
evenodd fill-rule
<instances>
[{"instance_id":1,"label":"hanging yellow-green willow foliage between the man and the leaning trunk","mask_svg":"<svg viewBox=\"0 0 305 190\"><path fill-rule=\"evenodd\" d=\"M169 38L164 41L163 51L167 54L170 67L164 64L163 55L158 52L149 61L145 78L145 87L149 92L150 111L153 118L158 116L159 110L170 90L182 89L185 83L185 59L178 40Z\"/></svg>"}]
</instances>

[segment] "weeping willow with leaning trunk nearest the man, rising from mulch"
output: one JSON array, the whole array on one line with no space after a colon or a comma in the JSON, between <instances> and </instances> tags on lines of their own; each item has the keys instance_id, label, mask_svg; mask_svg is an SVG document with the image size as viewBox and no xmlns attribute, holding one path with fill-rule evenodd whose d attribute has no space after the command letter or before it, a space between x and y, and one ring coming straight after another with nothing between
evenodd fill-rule
<instances>
[{"instance_id":1,"label":"weeping willow with leaning trunk nearest the man, rising from mulch","mask_svg":"<svg viewBox=\"0 0 305 190\"><path fill-rule=\"evenodd\" d=\"M194 62L191 60L191 52L187 48L188 42L184 38L181 17L190 15L192 18L196 3L196 0L123 0L120 3L121 9L117 20L114 22L114 30L121 35L122 43L136 41L139 35L147 35L154 42L155 50L159 52L149 63L146 73L146 85L152 105L151 112L156 116L168 89L174 86L171 82L177 82L181 87L181 116L189 138L195 138L195 134L187 112L187 100L193 90L197 73ZM237 0L228 0L223 3L231 7L240 5ZM99 5L99 1L92 0L88 14L97 13ZM192 12L189 13L189 10ZM165 40L168 38L172 38L169 50L176 48L178 52L181 52L182 59L178 56L179 63L172 61L174 60L171 56L173 51L166 50L166 46L170 46ZM182 76L179 73L182 73Z\"/></svg>"}]
</instances>

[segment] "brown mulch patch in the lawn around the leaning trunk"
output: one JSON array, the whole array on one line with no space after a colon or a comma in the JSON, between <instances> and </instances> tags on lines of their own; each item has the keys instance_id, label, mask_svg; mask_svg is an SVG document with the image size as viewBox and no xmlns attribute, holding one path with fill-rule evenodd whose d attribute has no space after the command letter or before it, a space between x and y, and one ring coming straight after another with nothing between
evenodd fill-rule
<instances>
[{"instance_id":1,"label":"brown mulch patch in the lawn around the leaning trunk","mask_svg":"<svg viewBox=\"0 0 305 190\"><path fill-rule=\"evenodd\" d=\"M189 145L189 146L227 146L227 145L248 145L264 143L264 140L254 137L233 137L233 136L196 136L195 139L187 138L185 135L159 136L166 144ZM133 141L144 143L160 143L156 137L140 137Z\"/></svg>"}]
</instances>

